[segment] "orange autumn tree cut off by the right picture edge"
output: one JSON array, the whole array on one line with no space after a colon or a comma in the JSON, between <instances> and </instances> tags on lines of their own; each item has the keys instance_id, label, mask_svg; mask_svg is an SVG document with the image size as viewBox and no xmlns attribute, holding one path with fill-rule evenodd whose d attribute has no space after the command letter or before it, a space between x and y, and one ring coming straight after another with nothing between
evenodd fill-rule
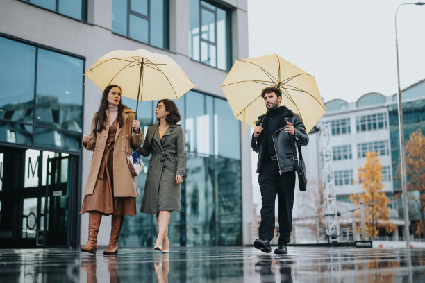
<instances>
[{"instance_id":1,"label":"orange autumn tree cut off by the right picture edge","mask_svg":"<svg viewBox=\"0 0 425 283\"><path fill-rule=\"evenodd\" d=\"M405 151L407 189L412 192L417 191L417 194L410 194L409 199L417 203L421 216L415 234L422 233L425 238L425 137L421 129L409 135Z\"/></svg>"}]
</instances>

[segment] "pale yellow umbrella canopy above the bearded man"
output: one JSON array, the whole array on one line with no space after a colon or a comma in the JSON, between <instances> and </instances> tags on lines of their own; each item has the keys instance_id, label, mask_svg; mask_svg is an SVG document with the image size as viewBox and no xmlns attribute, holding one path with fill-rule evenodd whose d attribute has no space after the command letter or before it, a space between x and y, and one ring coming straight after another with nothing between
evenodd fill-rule
<instances>
[{"instance_id":1,"label":"pale yellow umbrella canopy above the bearded man","mask_svg":"<svg viewBox=\"0 0 425 283\"><path fill-rule=\"evenodd\" d=\"M235 118L252 127L267 112L265 87L281 89L281 105L301 117L307 132L326 112L315 77L276 54L236 60L221 87Z\"/></svg>"}]
</instances>

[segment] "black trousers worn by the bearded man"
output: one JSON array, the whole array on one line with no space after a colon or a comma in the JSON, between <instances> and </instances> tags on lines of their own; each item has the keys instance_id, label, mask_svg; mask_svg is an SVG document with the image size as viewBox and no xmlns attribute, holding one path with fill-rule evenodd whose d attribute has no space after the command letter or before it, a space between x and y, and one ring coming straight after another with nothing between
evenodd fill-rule
<instances>
[{"instance_id":1,"label":"black trousers worn by the bearded man","mask_svg":"<svg viewBox=\"0 0 425 283\"><path fill-rule=\"evenodd\" d=\"M265 160L258 175L261 191L261 222L258 236L272 241L274 237L274 202L278 196L279 245L291 241L292 207L294 207L295 172L279 175L277 161Z\"/></svg>"}]
</instances>

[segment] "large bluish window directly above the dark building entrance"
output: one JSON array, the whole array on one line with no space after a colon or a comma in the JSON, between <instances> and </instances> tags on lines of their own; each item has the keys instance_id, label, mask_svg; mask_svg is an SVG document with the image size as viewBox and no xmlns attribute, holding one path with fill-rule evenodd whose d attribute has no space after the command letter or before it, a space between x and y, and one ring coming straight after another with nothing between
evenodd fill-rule
<instances>
[{"instance_id":1,"label":"large bluish window directly above the dark building entrance","mask_svg":"<svg viewBox=\"0 0 425 283\"><path fill-rule=\"evenodd\" d=\"M0 37L0 141L81 152L84 60Z\"/></svg>"}]
</instances>

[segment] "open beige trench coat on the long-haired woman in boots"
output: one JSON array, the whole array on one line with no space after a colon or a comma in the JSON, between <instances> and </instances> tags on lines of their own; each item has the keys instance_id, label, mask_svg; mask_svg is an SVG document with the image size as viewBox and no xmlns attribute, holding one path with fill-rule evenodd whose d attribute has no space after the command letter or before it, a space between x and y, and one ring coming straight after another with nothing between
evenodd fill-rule
<instances>
[{"instance_id":1,"label":"open beige trench coat on the long-haired woman in boots","mask_svg":"<svg viewBox=\"0 0 425 283\"><path fill-rule=\"evenodd\" d=\"M93 194L94 185L96 184L97 175L102 162L103 151L105 151L106 141L108 139L109 132L109 114L106 110L108 119L106 120L106 128L102 132L97 132L97 135L93 134L94 114L92 121L92 130L90 131L90 141L87 144L83 143L85 149L93 151L92 165L90 166L90 172L88 175L87 182L85 183L84 196ZM142 131L139 134L133 132L132 124L135 117L135 112L129 108L124 108L122 112L123 125L122 128L117 128L115 135L114 145L114 197L133 197L136 198L138 195L136 191L138 189L135 178L131 175L130 169L128 168L127 154L126 154L126 140L129 139L130 143L134 147L140 146L143 141ZM128 148L128 152L131 153L131 148Z\"/></svg>"}]
</instances>

